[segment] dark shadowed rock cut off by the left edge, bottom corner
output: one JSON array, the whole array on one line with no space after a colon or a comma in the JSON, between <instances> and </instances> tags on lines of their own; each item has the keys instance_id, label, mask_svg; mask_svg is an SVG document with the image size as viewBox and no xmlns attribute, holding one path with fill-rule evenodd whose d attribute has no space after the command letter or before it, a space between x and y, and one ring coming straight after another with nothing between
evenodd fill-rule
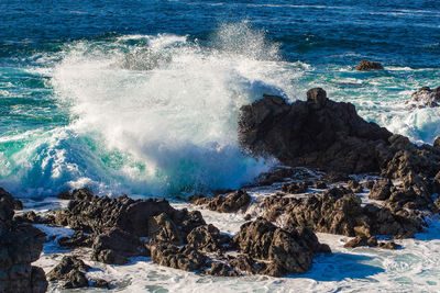
<instances>
[{"instance_id":1,"label":"dark shadowed rock cut off by the left edge, bottom corner","mask_svg":"<svg viewBox=\"0 0 440 293\"><path fill-rule=\"evenodd\" d=\"M0 188L0 292L45 292L43 269L31 263L40 258L45 234L13 221L18 201Z\"/></svg>"}]
</instances>

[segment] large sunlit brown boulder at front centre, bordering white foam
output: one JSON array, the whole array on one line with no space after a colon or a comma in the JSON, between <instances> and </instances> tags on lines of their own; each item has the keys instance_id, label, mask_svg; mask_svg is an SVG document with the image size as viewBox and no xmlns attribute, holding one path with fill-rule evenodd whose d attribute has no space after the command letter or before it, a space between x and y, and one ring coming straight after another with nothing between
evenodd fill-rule
<instances>
[{"instance_id":1,"label":"large sunlit brown boulder at front centre, bordering white foam","mask_svg":"<svg viewBox=\"0 0 440 293\"><path fill-rule=\"evenodd\" d=\"M308 232L306 232L308 233ZM270 261L264 274L282 275L302 273L310 269L315 256L316 243L308 243L310 237L302 238L297 230L284 230L264 218L245 223L233 238L237 247L252 258Z\"/></svg>"}]
</instances>

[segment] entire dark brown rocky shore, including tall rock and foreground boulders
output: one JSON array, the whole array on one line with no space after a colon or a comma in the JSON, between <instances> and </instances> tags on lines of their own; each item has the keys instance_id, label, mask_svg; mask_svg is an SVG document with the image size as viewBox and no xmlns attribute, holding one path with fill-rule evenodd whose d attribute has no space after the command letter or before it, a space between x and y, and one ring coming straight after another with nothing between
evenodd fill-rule
<instances>
[{"instance_id":1,"label":"entire dark brown rocky shore, including tall rock and foreground boulders","mask_svg":"<svg viewBox=\"0 0 440 293\"><path fill-rule=\"evenodd\" d=\"M69 201L66 209L14 216L20 203L0 190L0 292L45 292L46 279L66 289L111 289L88 277L92 268L85 261L124 266L133 257L215 277L305 273L318 253L331 253L316 233L353 237L346 248L397 249L394 239L414 237L439 213L440 144L415 145L322 89L292 104L264 95L241 109L238 131L244 151L283 166L240 190L188 199L199 210L242 215L235 235L166 200L98 196L87 189L59 194ZM256 199L258 188L271 193ZM31 262L51 239L32 224L74 229L57 245L89 249L88 258L65 256L45 275Z\"/></svg>"}]
</instances>

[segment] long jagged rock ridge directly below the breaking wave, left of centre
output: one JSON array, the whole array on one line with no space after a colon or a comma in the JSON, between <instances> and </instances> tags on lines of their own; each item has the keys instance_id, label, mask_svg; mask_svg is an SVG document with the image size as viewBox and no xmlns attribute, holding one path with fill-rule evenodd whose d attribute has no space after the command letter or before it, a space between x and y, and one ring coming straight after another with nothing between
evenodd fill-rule
<instances>
[{"instance_id":1,"label":"long jagged rock ridge directly below the breaking wave, left of centre","mask_svg":"<svg viewBox=\"0 0 440 293\"><path fill-rule=\"evenodd\" d=\"M59 210L46 217L55 225L70 226L85 233L101 234L118 227L139 237L152 236L148 227L154 227L154 217L166 214L177 226L182 226L183 238L205 221L199 212L175 210L165 200L132 200L127 195L110 199L96 196L87 189L72 194L67 210Z\"/></svg>"}]
</instances>

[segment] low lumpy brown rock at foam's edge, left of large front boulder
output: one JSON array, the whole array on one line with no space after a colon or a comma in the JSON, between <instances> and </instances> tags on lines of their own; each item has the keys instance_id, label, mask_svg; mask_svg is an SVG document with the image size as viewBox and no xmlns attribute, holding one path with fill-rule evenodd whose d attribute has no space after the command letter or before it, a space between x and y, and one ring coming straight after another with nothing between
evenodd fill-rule
<instances>
[{"instance_id":1,"label":"low lumpy brown rock at foam's edge, left of large front boulder","mask_svg":"<svg viewBox=\"0 0 440 293\"><path fill-rule=\"evenodd\" d=\"M177 247L169 244L157 244L151 247L154 263L185 271L199 271L207 261L205 255L191 247Z\"/></svg>"}]
</instances>

